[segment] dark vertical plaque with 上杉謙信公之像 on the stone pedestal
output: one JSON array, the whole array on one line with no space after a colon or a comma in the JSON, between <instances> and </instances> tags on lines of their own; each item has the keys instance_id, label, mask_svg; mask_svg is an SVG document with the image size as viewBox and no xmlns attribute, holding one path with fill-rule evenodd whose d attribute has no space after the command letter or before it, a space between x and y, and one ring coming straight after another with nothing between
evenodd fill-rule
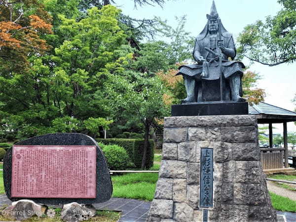
<instances>
[{"instance_id":1,"label":"dark vertical plaque with \u4e0a\u6749\u8b19\u4fe1\u516c\u4e4b\u50cf on the stone pedestal","mask_svg":"<svg viewBox=\"0 0 296 222\"><path fill-rule=\"evenodd\" d=\"M213 207L213 149L200 152L200 207Z\"/></svg>"}]
</instances>

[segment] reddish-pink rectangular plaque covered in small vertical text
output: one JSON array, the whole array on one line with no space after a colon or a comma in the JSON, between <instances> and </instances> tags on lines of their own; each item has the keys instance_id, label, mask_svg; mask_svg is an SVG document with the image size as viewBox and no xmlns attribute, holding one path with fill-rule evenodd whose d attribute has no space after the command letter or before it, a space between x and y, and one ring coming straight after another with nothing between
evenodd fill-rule
<instances>
[{"instance_id":1,"label":"reddish-pink rectangular plaque covered in small vertical text","mask_svg":"<svg viewBox=\"0 0 296 222\"><path fill-rule=\"evenodd\" d=\"M96 198L96 146L14 145L11 197Z\"/></svg>"}]
</instances>

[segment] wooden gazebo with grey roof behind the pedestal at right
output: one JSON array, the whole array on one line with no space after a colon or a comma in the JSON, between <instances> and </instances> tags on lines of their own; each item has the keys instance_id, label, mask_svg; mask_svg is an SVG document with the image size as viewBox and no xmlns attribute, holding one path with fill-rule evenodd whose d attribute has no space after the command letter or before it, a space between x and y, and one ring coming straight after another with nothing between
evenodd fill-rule
<instances>
[{"instance_id":1,"label":"wooden gazebo with grey roof behind the pedestal at right","mask_svg":"<svg viewBox=\"0 0 296 222\"><path fill-rule=\"evenodd\" d=\"M258 124L269 125L269 147L270 149L261 149L261 151L285 151L285 160L288 160L288 136L287 123L296 121L296 112L280 108L265 102L249 105L249 114L256 115ZM284 149L275 149L272 141L272 124L283 123L284 127ZM289 167L288 161L285 161L285 168Z\"/></svg>"}]
</instances>

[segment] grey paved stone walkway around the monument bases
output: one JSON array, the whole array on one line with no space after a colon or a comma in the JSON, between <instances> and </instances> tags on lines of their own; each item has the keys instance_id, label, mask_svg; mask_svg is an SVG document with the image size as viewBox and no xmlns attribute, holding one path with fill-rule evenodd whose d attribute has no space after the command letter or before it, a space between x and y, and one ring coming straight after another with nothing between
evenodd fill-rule
<instances>
[{"instance_id":1,"label":"grey paved stone walkway around the monument bases","mask_svg":"<svg viewBox=\"0 0 296 222\"><path fill-rule=\"evenodd\" d=\"M0 205L11 204L6 195L0 195ZM93 204L97 210L114 210L121 212L121 218L118 222L145 222L150 202L125 199L111 198L109 201ZM277 211L278 222L296 222L296 214L290 212Z\"/></svg>"}]
</instances>

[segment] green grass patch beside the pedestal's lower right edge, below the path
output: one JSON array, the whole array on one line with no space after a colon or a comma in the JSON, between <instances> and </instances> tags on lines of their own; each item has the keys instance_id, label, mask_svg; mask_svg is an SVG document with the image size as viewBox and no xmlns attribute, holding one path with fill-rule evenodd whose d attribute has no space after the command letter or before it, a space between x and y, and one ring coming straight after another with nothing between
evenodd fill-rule
<instances>
[{"instance_id":1,"label":"green grass patch beside the pedestal's lower right edge, below the path","mask_svg":"<svg viewBox=\"0 0 296 222\"><path fill-rule=\"evenodd\" d=\"M269 192L272 206L277 211L296 212L296 201Z\"/></svg>"}]
</instances>

